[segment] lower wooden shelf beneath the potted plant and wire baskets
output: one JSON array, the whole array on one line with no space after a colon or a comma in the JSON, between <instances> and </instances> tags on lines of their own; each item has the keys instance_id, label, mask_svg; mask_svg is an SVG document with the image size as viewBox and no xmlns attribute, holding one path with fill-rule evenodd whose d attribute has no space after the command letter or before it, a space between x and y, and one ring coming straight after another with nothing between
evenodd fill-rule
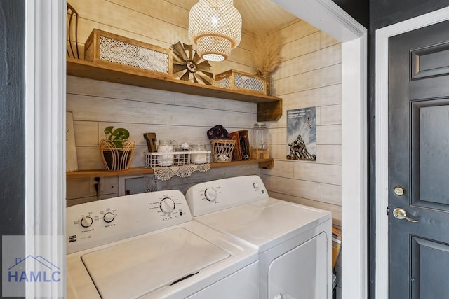
<instances>
[{"instance_id":1,"label":"lower wooden shelf beneath the potted plant and wire baskets","mask_svg":"<svg viewBox=\"0 0 449 299\"><path fill-rule=\"evenodd\" d=\"M229 163L210 163L210 168L230 167L237 165L259 163L259 168L272 169L274 165L273 159L250 159L244 161L232 161ZM67 179L90 178L93 176L129 176L133 174L152 174L152 168L130 168L128 170L107 171L107 170L79 170L77 172L67 172Z\"/></svg>"}]
</instances>

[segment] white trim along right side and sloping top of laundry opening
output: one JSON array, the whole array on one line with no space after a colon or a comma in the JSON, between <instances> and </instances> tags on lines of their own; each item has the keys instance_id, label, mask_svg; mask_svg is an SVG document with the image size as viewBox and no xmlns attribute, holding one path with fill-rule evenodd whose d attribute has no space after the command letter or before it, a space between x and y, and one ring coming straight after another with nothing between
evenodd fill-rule
<instances>
[{"instance_id":1,"label":"white trim along right side and sloping top of laundry opening","mask_svg":"<svg viewBox=\"0 0 449 299\"><path fill-rule=\"evenodd\" d=\"M330 0L273 1L342 41L342 298L367 298L366 29Z\"/></svg>"}]
</instances>

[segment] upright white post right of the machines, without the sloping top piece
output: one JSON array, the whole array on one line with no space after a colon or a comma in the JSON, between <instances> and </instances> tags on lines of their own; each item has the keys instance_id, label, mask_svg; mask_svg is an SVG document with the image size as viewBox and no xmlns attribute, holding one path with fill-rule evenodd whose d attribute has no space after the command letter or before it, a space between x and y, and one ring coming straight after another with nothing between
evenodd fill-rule
<instances>
[{"instance_id":1,"label":"upright white post right of the machines, without the sloping top piece","mask_svg":"<svg viewBox=\"0 0 449 299\"><path fill-rule=\"evenodd\" d=\"M367 298L367 36L342 43L342 298Z\"/></svg>"}]
</instances>

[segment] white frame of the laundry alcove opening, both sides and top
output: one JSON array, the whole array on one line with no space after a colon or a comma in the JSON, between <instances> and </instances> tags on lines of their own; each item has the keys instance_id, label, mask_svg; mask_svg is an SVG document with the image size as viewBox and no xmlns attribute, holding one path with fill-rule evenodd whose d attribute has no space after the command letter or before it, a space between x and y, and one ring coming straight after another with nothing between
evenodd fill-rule
<instances>
[{"instance_id":1,"label":"white frame of the laundry alcove opening, both sides and top","mask_svg":"<svg viewBox=\"0 0 449 299\"><path fill-rule=\"evenodd\" d=\"M273 1L342 41L342 297L367 298L366 28L332 0ZM45 0L39 6L25 0L29 236L65 235L65 5L64 0ZM39 129L48 132L46 139L34 138ZM55 255L65 257L65 242L51 245Z\"/></svg>"}]
</instances>

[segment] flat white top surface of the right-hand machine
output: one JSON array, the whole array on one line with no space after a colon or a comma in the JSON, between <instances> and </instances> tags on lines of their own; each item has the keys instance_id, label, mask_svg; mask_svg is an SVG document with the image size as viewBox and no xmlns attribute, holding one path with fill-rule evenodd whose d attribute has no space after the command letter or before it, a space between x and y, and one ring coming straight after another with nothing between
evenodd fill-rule
<instances>
[{"instance_id":1,"label":"flat white top surface of the right-hand machine","mask_svg":"<svg viewBox=\"0 0 449 299\"><path fill-rule=\"evenodd\" d=\"M270 249L330 218L329 211L270 198L195 217L227 235Z\"/></svg>"}]
</instances>

